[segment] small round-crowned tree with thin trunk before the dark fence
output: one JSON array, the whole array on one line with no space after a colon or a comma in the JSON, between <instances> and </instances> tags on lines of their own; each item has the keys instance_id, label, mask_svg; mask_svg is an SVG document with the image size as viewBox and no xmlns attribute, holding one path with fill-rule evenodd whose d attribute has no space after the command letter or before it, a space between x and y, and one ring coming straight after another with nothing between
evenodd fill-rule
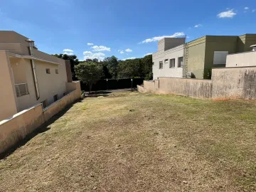
<instances>
[{"instance_id":1,"label":"small round-crowned tree with thin trunk before the dark fence","mask_svg":"<svg viewBox=\"0 0 256 192\"><path fill-rule=\"evenodd\" d=\"M75 73L77 78L82 82L85 82L86 85L89 85L89 93L92 90L92 85L95 84L97 80L100 80L102 76L102 70L102 65L92 61L75 65Z\"/></svg>"}]
</instances>

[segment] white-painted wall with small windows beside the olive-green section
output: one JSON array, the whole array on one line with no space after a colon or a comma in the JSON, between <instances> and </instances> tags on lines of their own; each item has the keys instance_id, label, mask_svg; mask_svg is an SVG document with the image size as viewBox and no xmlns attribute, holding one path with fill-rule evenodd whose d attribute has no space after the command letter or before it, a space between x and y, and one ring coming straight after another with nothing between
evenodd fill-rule
<instances>
[{"instance_id":1,"label":"white-painted wall with small windows beside the olive-green section","mask_svg":"<svg viewBox=\"0 0 256 192\"><path fill-rule=\"evenodd\" d=\"M153 80L159 77L182 78L183 68L178 68L178 58L183 57L184 46L177 46L169 50L159 50L153 53ZM175 68L169 68L170 59L175 58ZM164 60L168 59L168 63ZM159 62L163 61L163 69L159 69Z\"/></svg>"}]
</instances>

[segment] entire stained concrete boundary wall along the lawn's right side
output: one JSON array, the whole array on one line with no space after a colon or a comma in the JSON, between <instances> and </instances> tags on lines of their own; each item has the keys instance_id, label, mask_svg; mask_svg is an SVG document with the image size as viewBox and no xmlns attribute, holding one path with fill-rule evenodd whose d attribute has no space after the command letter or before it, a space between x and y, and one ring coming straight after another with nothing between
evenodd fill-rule
<instances>
[{"instance_id":1,"label":"entire stained concrete boundary wall along the lawn's right side","mask_svg":"<svg viewBox=\"0 0 256 192\"><path fill-rule=\"evenodd\" d=\"M215 68L212 80L159 78L144 81L144 87L138 86L138 90L214 100L256 100L256 67Z\"/></svg>"}]
</instances>

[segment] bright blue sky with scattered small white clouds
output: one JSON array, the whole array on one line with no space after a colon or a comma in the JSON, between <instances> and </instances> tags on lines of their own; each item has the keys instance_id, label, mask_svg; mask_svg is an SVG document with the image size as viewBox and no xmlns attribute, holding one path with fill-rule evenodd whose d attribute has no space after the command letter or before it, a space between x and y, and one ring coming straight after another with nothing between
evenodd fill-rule
<instances>
[{"instance_id":1,"label":"bright blue sky with scattered small white clouds","mask_svg":"<svg viewBox=\"0 0 256 192\"><path fill-rule=\"evenodd\" d=\"M36 41L46 53L80 60L142 58L162 36L256 33L255 0L1 0L0 30ZM87 43L93 43L88 45ZM71 51L72 50L72 51Z\"/></svg>"}]
</instances>

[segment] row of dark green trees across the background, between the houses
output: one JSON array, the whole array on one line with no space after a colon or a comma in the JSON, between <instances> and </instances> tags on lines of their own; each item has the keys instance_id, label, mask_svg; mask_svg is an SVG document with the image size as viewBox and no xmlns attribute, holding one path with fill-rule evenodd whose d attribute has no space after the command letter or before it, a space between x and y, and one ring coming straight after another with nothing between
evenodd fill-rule
<instances>
[{"instance_id":1,"label":"row of dark green trees across the background, between the houses","mask_svg":"<svg viewBox=\"0 0 256 192\"><path fill-rule=\"evenodd\" d=\"M144 78L151 80L152 55L144 58L118 60L115 56L98 61L87 59L79 61L76 55L55 54L58 58L70 60L73 80L81 80L90 86L100 79Z\"/></svg>"}]
</instances>

